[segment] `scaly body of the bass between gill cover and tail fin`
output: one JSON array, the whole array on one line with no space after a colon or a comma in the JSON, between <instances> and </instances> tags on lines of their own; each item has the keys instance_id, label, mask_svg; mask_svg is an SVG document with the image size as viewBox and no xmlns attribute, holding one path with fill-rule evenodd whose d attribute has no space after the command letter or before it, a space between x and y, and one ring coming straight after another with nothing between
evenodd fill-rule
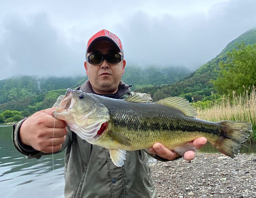
<instances>
[{"instance_id":1,"label":"scaly body of the bass between gill cover and tail fin","mask_svg":"<svg viewBox=\"0 0 256 198\"><path fill-rule=\"evenodd\" d=\"M156 142L174 149L199 137L216 141L222 133L223 126L216 122L185 117L179 110L161 104L113 101L109 98L97 100L109 109L109 130L131 140L131 146L117 143L106 147L109 149L118 147L123 150L137 150L151 147ZM104 144L104 141L109 140L99 139L97 145Z\"/></svg>"}]
</instances>

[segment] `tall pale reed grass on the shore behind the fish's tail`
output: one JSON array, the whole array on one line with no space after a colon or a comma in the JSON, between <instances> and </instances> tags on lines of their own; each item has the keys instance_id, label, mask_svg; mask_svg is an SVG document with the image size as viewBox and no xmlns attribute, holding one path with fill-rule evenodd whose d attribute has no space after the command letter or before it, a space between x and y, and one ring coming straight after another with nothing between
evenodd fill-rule
<instances>
[{"instance_id":1,"label":"tall pale reed grass on the shore behind the fish's tail","mask_svg":"<svg viewBox=\"0 0 256 198\"><path fill-rule=\"evenodd\" d=\"M246 121L252 124L250 140L256 142L256 87L244 87L244 93L223 95L221 99L211 102L207 107L197 105L198 118L208 121Z\"/></svg>"}]
</instances>

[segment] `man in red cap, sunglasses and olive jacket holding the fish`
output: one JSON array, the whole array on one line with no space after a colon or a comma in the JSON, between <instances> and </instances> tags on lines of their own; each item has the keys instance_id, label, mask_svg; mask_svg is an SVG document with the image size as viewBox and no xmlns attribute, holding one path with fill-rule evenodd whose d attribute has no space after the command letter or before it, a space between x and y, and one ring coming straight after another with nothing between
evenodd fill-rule
<instances>
[{"instance_id":1,"label":"man in red cap, sunglasses and olive jacket holding the fish","mask_svg":"<svg viewBox=\"0 0 256 198\"><path fill-rule=\"evenodd\" d=\"M121 81L126 61L120 39L107 30L101 30L89 39L84 67L89 80L79 90L122 99L138 94L151 100L147 94L133 93ZM56 106L61 98L55 103ZM52 116L56 107L33 114L13 126L15 147L26 156L40 158L66 148L65 197L157 197L146 153L143 150L127 151L122 167L115 166L109 150L81 140L61 120ZM54 136L53 136L53 127ZM206 143L196 139L196 148ZM156 143L148 148L156 159L167 161L179 158L178 154ZM187 151L184 159L192 160L193 151Z\"/></svg>"}]
</instances>

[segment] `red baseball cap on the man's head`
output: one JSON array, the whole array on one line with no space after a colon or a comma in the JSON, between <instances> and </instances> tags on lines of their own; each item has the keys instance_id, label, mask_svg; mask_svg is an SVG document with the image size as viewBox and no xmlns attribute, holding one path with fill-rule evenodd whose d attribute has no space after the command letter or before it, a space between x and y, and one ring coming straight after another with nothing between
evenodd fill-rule
<instances>
[{"instance_id":1,"label":"red baseball cap on the man's head","mask_svg":"<svg viewBox=\"0 0 256 198\"><path fill-rule=\"evenodd\" d=\"M120 52L123 53L123 46L120 38L118 38L117 35L113 34L108 30L100 30L88 40L87 47L86 47L86 54L90 50L90 48L93 46L94 43L102 40L113 42L116 45L116 47L120 50Z\"/></svg>"}]
</instances>

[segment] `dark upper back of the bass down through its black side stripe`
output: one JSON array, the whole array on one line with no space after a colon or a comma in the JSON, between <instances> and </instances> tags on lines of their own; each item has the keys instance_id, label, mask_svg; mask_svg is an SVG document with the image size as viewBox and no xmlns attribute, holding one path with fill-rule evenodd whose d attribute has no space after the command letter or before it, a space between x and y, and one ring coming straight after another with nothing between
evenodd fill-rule
<instances>
[{"instance_id":1,"label":"dark upper back of the bass down through its black side stripe","mask_svg":"<svg viewBox=\"0 0 256 198\"><path fill-rule=\"evenodd\" d=\"M177 109L160 104L115 101L115 107L112 107L111 101L100 102L108 107L112 125L129 130L202 131L216 135L221 133L222 125L216 122L185 117ZM127 106L123 105L125 102L128 103Z\"/></svg>"}]
</instances>

